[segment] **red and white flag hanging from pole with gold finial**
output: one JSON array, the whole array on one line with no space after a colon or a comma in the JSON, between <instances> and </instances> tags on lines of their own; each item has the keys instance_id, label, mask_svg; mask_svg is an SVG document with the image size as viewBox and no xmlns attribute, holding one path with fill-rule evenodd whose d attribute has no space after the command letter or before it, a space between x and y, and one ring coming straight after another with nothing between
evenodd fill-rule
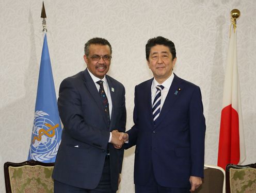
<instances>
[{"instance_id":1,"label":"red and white flag hanging from pole with gold finial","mask_svg":"<svg viewBox=\"0 0 256 193\"><path fill-rule=\"evenodd\" d=\"M236 26L231 28L220 118L218 166L245 161L245 141L236 53Z\"/></svg>"}]
</instances>

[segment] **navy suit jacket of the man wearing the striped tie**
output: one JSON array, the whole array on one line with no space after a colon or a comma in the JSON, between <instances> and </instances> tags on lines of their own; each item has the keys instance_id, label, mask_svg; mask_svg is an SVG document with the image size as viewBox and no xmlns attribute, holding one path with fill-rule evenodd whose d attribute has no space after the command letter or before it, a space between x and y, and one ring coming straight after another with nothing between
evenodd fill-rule
<instances>
[{"instance_id":1,"label":"navy suit jacket of the man wearing the striped tie","mask_svg":"<svg viewBox=\"0 0 256 193\"><path fill-rule=\"evenodd\" d=\"M203 177L205 118L200 88L174 74L154 126L152 81L135 87L135 125L127 131L125 148L136 145L134 183L145 185L154 173L159 185L188 187L190 176Z\"/></svg>"}]
</instances>

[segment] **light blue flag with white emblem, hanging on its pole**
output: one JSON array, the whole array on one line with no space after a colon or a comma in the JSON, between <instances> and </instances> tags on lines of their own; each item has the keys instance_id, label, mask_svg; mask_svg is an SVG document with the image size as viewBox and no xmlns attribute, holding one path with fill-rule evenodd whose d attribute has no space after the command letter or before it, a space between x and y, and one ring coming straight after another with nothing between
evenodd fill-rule
<instances>
[{"instance_id":1,"label":"light blue flag with white emblem, hanging on its pole","mask_svg":"<svg viewBox=\"0 0 256 193\"><path fill-rule=\"evenodd\" d=\"M53 73L45 33L28 160L32 159L45 163L55 162L61 141L61 132Z\"/></svg>"}]
</instances>

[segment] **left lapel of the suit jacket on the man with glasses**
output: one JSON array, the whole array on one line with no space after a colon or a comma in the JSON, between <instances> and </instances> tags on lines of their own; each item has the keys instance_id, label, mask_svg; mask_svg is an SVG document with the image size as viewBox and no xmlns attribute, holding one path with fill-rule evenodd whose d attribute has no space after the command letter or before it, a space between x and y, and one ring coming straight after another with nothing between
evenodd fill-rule
<instances>
[{"instance_id":1,"label":"left lapel of the suit jacket on the man with glasses","mask_svg":"<svg viewBox=\"0 0 256 193\"><path fill-rule=\"evenodd\" d=\"M85 69L83 75L84 75L83 78L84 78L85 86L87 87L87 90L91 94L92 98L97 103L97 106L100 109L101 115L103 116L104 121L106 122L106 125L107 125L107 116L104 113L104 108L103 108L103 105L102 105L102 100L101 100L99 91L97 90L97 87L95 86L95 83L93 82L90 74L88 73L87 68Z\"/></svg>"}]
</instances>

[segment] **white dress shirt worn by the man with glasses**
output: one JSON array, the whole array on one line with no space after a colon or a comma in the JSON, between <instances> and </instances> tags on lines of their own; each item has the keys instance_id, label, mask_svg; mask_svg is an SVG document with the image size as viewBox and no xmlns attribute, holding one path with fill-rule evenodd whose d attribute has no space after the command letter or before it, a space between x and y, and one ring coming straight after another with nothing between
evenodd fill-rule
<instances>
[{"instance_id":1,"label":"white dress shirt worn by the man with glasses","mask_svg":"<svg viewBox=\"0 0 256 193\"><path fill-rule=\"evenodd\" d=\"M103 81L103 87L104 87L104 91L106 93L106 96L107 96L107 101L108 101L108 109L109 109L109 118L111 120L111 112L112 112L112 100L111 100L111 94L110 94L110 89L109 89L109 86L108 86L108 83L107 83L107 79L106 79L106 76L103 77L103 79L100 79L98 77L95 77L88 69L88 73L90 74L95 86L97 87L97 90L99 92L100 90L100 85L97 83L99 80L102 80ZM109 140L108 140L108 143L111 142L111 139L112 139L112 133L110 132L110 136L109 136Z\"/></svg>"}]
</instances>

